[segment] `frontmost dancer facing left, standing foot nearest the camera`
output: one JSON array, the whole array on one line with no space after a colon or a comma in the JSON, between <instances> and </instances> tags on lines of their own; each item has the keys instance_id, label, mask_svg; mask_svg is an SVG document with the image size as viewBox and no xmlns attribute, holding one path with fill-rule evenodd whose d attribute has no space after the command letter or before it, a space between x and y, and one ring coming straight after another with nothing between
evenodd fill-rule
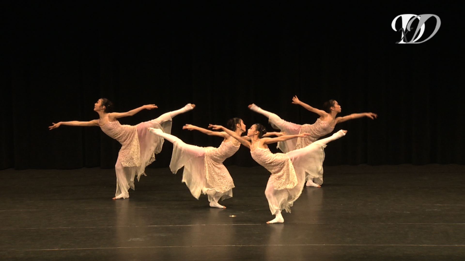
<instances>
[{"instance_id":1,"label":"frontmost dancer facing left, standing foot nearest the camera","mask_svg":"<svg viewBox=\"0 0 465 261\"><path fill-rule=\"evenodd\" d=\"M266 129L262 124L253 124L247 131L247 139L240 137L237 133L226 129L221 125L210 124L214 130L223 130L233 138L237 139L242 145L250 149L252 158L271 172L271 176L266 184L265 196L272 215L275 218L266 222L267 224L283 223L284 218L281 210L291 212L293 202L296 201L305 182L305 171L319 172L324 160L324 148L332 140L338 139L345 135L347 131L338 131L331 137L321 139L311 145L293 150L287 153L273 154L267 144L283 142L297 137L306 137L310 134L301 133L298 135L284 135L276 138L264 138L263 134ZM249 141L250 139L250 141Z\"/></svg>"}]
</instances>

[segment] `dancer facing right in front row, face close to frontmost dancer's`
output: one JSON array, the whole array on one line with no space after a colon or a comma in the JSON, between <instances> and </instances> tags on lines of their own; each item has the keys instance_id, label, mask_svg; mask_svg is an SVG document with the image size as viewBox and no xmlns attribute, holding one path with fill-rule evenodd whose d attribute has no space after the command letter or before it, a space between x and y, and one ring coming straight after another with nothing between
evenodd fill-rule
<instances>
[{"instance_id":1,"label":"dancer facing right in front row, face close to frontmost dancer's","mask_svg":"<svg viewBox=\"0 0 465 261\"><path fill-rule=\"evenodd\" d=\"M227 125L238 136L246 131L246 125L240 118L230 119ZM210 131L191 124L186 124L183 129L219 136L223 142L218 148L203 148L185 144L178 137L158 129L149 128L149 131L173 143L170 169L176 173L184 166L182 182L186 183L192 196L199 199L200 193L206 194L210 207L226 209L218 201L233 196L234 183L223 162L239 150L240 143L224 131Z\"/></svg>"}]
</instances>

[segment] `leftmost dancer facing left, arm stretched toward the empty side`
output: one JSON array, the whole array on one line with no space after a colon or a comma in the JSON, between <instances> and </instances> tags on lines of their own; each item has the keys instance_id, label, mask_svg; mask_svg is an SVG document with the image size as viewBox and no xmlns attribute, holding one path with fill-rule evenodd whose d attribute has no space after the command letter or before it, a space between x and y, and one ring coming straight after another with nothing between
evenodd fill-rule
<instances>
[{"instance_id":1,"label":"leftmost dancer facing left, arm stretched toward the empty side","mask_svg":"<svg viewBox=\"0 0 465 261\"><path fill-rule=\"evenodd\" d=\"M93 108L99 114L98 120L59 122L53 123L48 128L53 130L61 125L100 126L106 135L119 141L121 149L115 165L116 193L113 199L128 198L129 188L134 189L134 176L137 174L139 181L141 175L146 175L146 166L155 160L154 153L158 154L163 145L163 139L148 134L147 128L157 128L170 133L172 118L180 113L190 111L194 107L194 104L186 104L179 110L166 112L156 119L131 126L121 125L117 119L133 116L144 109L152 110L158 107L155 104L148 104L131 111L113 112L113 103L106 98L100 98Z\"/></svg>"}]
</instances>

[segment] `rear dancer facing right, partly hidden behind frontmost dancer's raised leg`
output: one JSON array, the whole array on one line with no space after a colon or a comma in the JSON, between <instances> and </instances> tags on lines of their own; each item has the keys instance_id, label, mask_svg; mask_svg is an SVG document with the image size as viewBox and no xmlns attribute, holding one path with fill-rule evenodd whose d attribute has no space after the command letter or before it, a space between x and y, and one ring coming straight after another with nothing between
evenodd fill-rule
<instances>
[{"instance_id":1,"label":"rear dancer facing right, partly hidden behind frontmost dancer's raised leg","mask_svg":"<svg viewBox=\"0 0 465 261\"><path fill-rule=\"evenodd\" d=\"M286 134L299 134L304 132L310 133L310 135L307 137L299 137L297 139L279 142L277 147L283 152L289 152L292 150L305 148L309 144L312 144L313 142L318 140L320 137L331 133L334 130L336 124L338 123L361 117L369 117L371 119L375 119L376 117L378 117L378 115L372 112L352 113L351 115L347 115L344 117L336 117L336 115L339 112L341 112L341 106L335 100L329 100L325 102L323 104L324 111L313 108L312 106L301 102L299 98L297 98L297 96L294 96L292 98L292 104L299 104L307 110L317 113L320 117L316 120L314 124L294 124L281 119L278 115L274 113L261 109L259 106L255 104L249 105L249 108L252 111L258 112L268 117L268 120L270 124L273 126L273 128L279 129L285 132ZM321 175L319 176L314 176L311 172L307 171L306 180L307 187L319 188L321 187L321 184L323 184L323 172L321 172Z\"/></svg>"}]
</instances>

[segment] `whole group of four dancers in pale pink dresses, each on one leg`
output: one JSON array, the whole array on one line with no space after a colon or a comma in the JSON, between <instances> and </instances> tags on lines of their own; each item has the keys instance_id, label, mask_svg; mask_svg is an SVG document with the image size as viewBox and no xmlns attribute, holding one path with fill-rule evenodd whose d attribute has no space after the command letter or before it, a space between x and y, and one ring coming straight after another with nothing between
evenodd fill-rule
<instances>
[{"instance_id":1,"label":"whole group of four dancers in pale pink dresses, each on one leg","mask_svg":"<svg viewBox=\"0 0 465 261\"><path fill-rule=\"evenodd\" d=\"M324 110L313 108L294 96L292 104L298 104L317 113L320 117L314 124L294 124L281 119L278 115L265 111L255 104L250 104L250 110L268 117L269 123L279 132L267 132L262 124L253 124L247 131L240 118L228 120L227 127L210 124L208 129L186 124L183 129L200 131L207 135L219 136L223 142L218 148L199 147L184 143L171 135L173 117L191 111L194 104L186 104L183 108L162 114L153 120L131 125L121 125L118 118L133 116L142 110L157 108L155 104L144 105L131 111L113 112L113 103L106 98L100 98L94 104L94 111L99 119L82 122L69 121L53 123L50 130L61 125L99 126L108 136L121 144L118 159L115 164L116 193L113 199L129 197L129 188L134 189L134 178L139 181L145 174L145 168L155 160L155 154L161 152L164 140L173 143L170 170L176 173L184 167L182 182L199 199L205 194L210 207L224 209L219 199L233 196L234 182L223 162L239 150L240 145L250 149L252 158L265 167L271 175L266 184L265 196L272 215L275 218L268 224L283 223L282 210L290 212L304 187L320 187L323 183L324 148L326 144L345 136L347 131L340 130L332 136L319 139L334 130L336 124L360 117L377 117L372 112L353 113L345 117L336 117L341 112L341 106L335 100L327 101ZM272 137L276 136L276 137ZM272 153L268 144L278 143L278 148L284 153Z\"/></svg>"}]
</instances>

